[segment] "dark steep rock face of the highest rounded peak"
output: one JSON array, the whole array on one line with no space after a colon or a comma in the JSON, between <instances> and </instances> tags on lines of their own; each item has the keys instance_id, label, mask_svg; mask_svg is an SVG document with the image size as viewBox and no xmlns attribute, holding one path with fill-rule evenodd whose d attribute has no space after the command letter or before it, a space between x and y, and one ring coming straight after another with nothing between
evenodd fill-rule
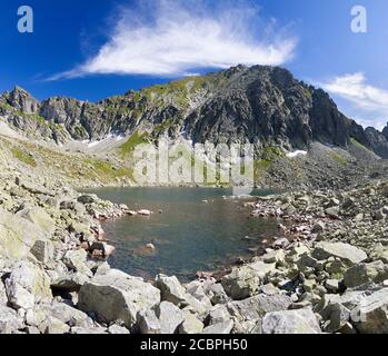
<instances>
[{"instance_id":1,"label":"dark steep rock face of the highest rounded peak","mask_svg":"<svg viewBox=\"0 0 388 356\"><path fill-rule=\"evenodd\" d=\"M310 91L280 68L238 67L186 120L193 141L304 146L311 140Z\"/></svg>"}]
</instances>

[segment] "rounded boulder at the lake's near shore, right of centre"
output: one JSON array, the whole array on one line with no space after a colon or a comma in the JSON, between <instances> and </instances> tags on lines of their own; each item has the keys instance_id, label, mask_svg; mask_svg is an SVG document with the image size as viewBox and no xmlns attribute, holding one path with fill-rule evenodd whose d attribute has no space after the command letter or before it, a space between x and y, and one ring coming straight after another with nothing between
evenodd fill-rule
<instances>
[{"instance_id":1,"label":"rounded boulder at the lake's near shore, right of centre","mask_svg":"<svg viewBox=\"0 0 388 356\"><path fill-rule=\"evenodd\" d=\"M235 300L241 300L253 296L259 289L259 284L260 277L257 271L249 266L236 268L230 275L221 279L225 291Z\"/></svg>"}]
</instances>

